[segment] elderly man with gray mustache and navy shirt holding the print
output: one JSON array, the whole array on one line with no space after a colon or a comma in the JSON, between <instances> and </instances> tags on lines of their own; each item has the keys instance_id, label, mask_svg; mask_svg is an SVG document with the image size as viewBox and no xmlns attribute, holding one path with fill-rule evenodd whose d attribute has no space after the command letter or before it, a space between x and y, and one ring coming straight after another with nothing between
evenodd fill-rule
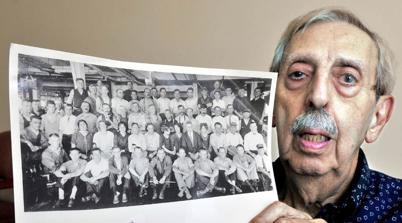
<instances>
[{"instance_id":1,"label":"elderly man with gray mustache and navy shirt holding the print","mask_svg":"<svg viewBox=\"0 0 402 223\"><path fill-rule=\"evenodd\" d=\"M370 170L360 148L390 118L392 58L383 40L343 8L289 23L270 69L279 73L272 125L280 201L252 221L400 221L401 181Z\"/></svg>"}]
</instances>

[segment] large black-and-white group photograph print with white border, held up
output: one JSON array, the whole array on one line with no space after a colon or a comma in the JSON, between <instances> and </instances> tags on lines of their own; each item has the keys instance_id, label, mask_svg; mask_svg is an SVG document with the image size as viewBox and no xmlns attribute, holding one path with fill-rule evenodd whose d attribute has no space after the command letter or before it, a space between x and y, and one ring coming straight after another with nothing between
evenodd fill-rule
<instances>
[{"instance_id":1,"label":"large black-and-white group photograph print with white border, held up","mask_svg":"<svg viewBox=\"0 0 402 223\"><path fill-rule=\"evenodd\" d=\"M277 200L275 84L276 73L12 45L16 216L250 220Z\"/></svg>"}]
</instances>

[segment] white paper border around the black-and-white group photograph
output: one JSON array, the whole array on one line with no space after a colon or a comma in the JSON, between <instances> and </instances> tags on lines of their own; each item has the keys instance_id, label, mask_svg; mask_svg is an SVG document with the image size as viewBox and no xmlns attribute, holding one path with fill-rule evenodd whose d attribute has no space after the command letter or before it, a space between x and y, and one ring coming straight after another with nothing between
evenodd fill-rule
<instances>
[{"instance_id":1,"label":"white paper border around the black-and-white group photograph","mask_svg":"<svg viewBox=\"0 0 402 223\"><path fill-rule=\"evenodd\" d=\"M10 118L12 133L14 199L16 222L245 222L263 210L268 204L278 200L273 177L272 163L269 164L272 179L272 191L237 194L235 196L211 197L188 201L167 202L158 204L126 206L91 210L64 211L24 211L21 145L18 113L18 55L26 54L61 60L89 63L94 65L158 71L173 73L191 73L195 75L216 75L234 77L252 77L271 79L270 98L268 106L268 123L272 123L274 95L276 90L277 73L234 69L199 68L148 63L135 63L103 59L98 57L43 49L19 44L10 47ZM268 127L268 135L272 135ZM269 154L271 153L271 137L267 139Z\"/></svg>"}]
</instances>

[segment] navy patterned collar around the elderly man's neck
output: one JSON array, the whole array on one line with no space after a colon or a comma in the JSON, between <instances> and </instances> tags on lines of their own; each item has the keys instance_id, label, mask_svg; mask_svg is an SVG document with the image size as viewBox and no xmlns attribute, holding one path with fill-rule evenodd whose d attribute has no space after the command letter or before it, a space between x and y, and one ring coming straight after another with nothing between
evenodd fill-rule
<instances>
[{"instance_id":1,"label":"navy patterned collar around the elderly man's neck","mask_svg":"<svg viewBox=\"0 0 402 223\"><path fill-rule=\"evenodd\" d=\"M279 191L284 187L286 177L285 170L279 158L273 162L272 168L274 170L277 191ZM322 216L323 212L328 208L337 209L338 215L352 215L352 213L358 209L358 206L361 204L364 196L368 192L371 182L370 172L371 171L368 167L366 156L364 155L363 150L360 148L355 174L350 185L351 189L346 192L345 196L340 198L339 202L324 205L316 217Z\"/></svg>"}]
</instances>

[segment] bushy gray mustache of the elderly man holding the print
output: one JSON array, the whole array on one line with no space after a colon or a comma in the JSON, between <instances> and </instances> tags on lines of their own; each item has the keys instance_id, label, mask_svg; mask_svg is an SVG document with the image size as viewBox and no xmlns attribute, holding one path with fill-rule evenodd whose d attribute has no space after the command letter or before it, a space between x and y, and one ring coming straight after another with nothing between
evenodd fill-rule
<instances>
[{"instance_id":1,"label":"bushy gray mustache of the elderly man holding the print","mask_svg":"<svg viewBox=\"0 0 402 223\"><path fill-rule=\"evenodd\" d=\"M290 133L297 134L307 127L321 128L329 134L338 132L334 119L323 108L310 108L304 114L297 116L290 128Z\"/></svg>"}]
</instances>

